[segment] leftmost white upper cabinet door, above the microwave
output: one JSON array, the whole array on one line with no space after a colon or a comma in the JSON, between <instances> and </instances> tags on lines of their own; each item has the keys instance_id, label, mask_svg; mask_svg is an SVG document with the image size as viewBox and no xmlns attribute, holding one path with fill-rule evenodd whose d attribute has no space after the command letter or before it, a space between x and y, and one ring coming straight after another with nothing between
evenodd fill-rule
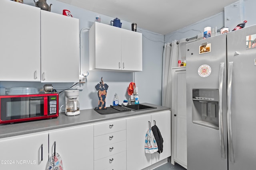
<instances>
[{"instance_id":1,"label":"leftmost white upper cabinet door, above the microwave","mask_svg":"<svg viewBox=\"0 0 256 170\"><path fill-rule=\"evenodd\" d=\"M0 1L0 81L40 81L40 8Z\"/></svg>"}]
</instances>

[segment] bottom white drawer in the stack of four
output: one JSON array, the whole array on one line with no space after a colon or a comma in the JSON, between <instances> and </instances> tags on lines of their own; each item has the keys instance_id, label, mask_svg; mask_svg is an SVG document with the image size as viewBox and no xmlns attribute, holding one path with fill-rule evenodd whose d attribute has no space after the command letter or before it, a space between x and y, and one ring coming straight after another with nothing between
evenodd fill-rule
<instances>
[{"instance_id":1,"label":"bottom white drawer in the stack of four","mask_svg":"<svg viewBox=\"0 0 256 170\"><path fill-rule=\"evenodd\" d=\"M126 151L94 161L94 170L126 170Z\"/></svg>"}]
</instances>

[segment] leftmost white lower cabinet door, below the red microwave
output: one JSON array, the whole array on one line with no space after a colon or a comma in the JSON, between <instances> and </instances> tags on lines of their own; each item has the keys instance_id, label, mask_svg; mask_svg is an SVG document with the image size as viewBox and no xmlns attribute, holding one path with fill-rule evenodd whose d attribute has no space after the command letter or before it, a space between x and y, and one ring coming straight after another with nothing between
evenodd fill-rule
<instances>
[{"instance_id":1,"label":"leftmost white lower cabinet door, below the red microwave","mask_svg":"<svg viewBox=\"0 0 256 170\"><path fill-rule=\"evenodd\" d=\"M48 133L33 133L0 139L1 170L45 170Z\"/></svg>"}]
</instances>

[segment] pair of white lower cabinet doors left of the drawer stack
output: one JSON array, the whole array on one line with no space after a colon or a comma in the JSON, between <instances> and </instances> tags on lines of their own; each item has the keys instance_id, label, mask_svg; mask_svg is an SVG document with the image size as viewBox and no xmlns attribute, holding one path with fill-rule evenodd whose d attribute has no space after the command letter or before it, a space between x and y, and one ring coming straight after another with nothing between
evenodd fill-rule
<instances>
[{"instance_id":1,"label":"pair of white lower cabinet doors left of the drawer stack","mask_svg":"<svg viewBox=\"0 0 256 170\"><path fill-rule=\"evenodd\" d=\"M2 138L0 169L46 170L48 155L54 154L54 146L64 169L94 169L93 125Z\"/></svg>"}]
</instances>

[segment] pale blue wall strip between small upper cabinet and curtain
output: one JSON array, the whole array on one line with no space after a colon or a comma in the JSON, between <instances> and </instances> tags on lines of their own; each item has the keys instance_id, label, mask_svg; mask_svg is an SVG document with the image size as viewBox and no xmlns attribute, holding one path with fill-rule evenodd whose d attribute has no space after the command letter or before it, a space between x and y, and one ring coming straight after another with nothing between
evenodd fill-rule
<instances>
[{"instance_id":1,"label":"pale blue wall strip between small upper cabinet and curtain","mask_svg":"<svg viewBox=\"0 0 256 170\"><path fill-rule=\"evenodd\" d=\"M140 100L162 105L162 53L164 36L142 31L143 71L135 72ZM152 47L152 48L150 48ZM150 103L149 102L149 103Z\"/></svg>"}]
</instances>

